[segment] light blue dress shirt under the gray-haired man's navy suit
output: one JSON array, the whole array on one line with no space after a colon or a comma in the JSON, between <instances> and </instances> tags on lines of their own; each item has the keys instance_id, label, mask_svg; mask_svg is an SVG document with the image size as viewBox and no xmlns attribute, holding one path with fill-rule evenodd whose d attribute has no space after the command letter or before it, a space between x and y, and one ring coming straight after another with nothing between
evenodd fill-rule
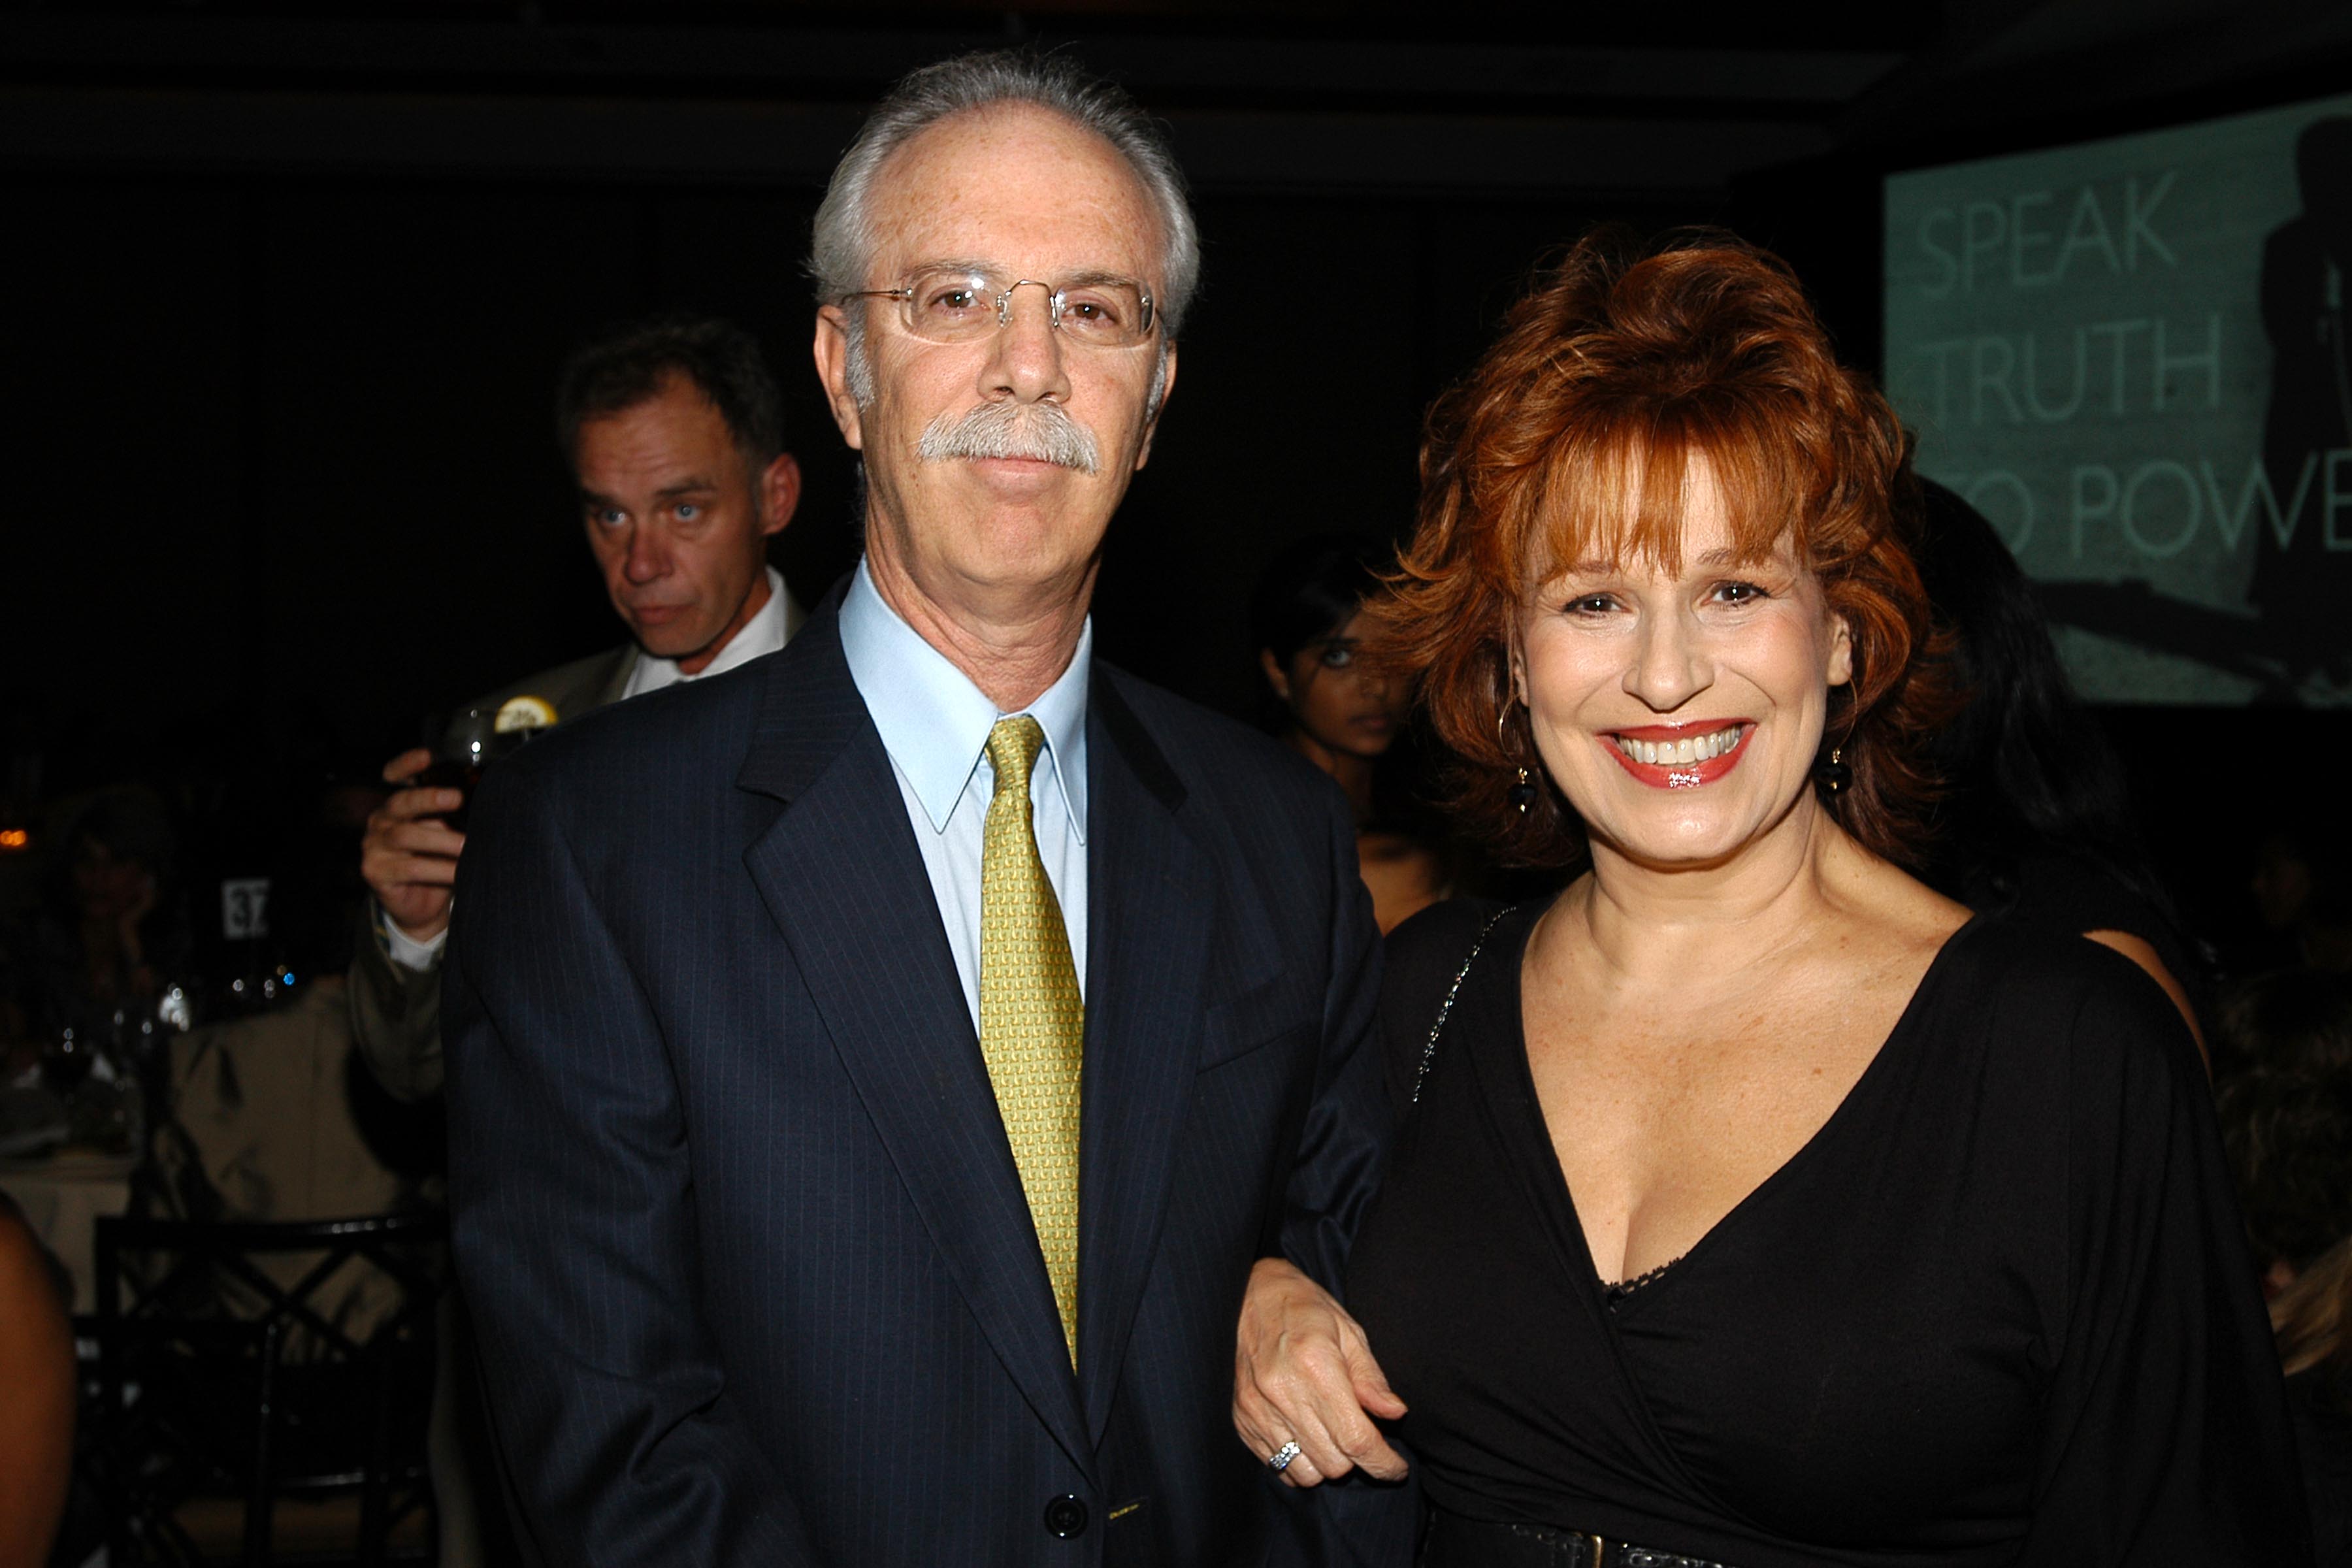
<instances>
[{"instance_id":1,"label":"light blue dress shirt under the gray-haired man's navy suit","mask_svg":"<svg viewBox=\"0 0 2352 1568\"><path fill-rule=\"evenodd\" d=\"M964 983L971 1027L981 1027L981 827L997 792L988 762L988 731L997 705L948 663L875 592L866 562L842 599L842 654L866 712L882 731L906 797L906 818L931 875L938 922L948 929L955 976ZM1030 823L1037 858L1061 900L1070 931L1070 961L1080 997L1087 994L1087 670L1094 661L1094 616L1077 635L1070 668L1044 696L1023 708L1044 731L1051 766L1030 766Z\"/></svg>"}]
</instances>

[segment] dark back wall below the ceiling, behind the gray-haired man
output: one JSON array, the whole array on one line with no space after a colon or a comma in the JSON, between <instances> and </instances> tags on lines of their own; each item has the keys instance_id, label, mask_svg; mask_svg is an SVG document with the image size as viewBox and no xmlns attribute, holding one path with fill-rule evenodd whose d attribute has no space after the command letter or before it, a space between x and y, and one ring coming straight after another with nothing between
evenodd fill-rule
<instances>
[{"instance_id":1,"label":"dark back wall below the ceiling, behind the gray-haired man","mask_svg":"<svg viewBox=\"0 0 2352 1568\"><path fill-rule=\"evenodd\" d=\"M12 510L45 520L0 614L38 665L19 679L129 731L111 745L228 705L388 755L423 710L609 646L548 390L569 343L640 310L760 336L809 480L776 562L814 602L856 559L809 369L807 188L42 174L0 202L40 235L0 313L33 458ZM1105 651L1247 708L1258 567L1305 531L1406 527L1421 407L1595 216L1693 214L1204 190L1207 294L1115 527Z\"/></svg>"}]
</instances>

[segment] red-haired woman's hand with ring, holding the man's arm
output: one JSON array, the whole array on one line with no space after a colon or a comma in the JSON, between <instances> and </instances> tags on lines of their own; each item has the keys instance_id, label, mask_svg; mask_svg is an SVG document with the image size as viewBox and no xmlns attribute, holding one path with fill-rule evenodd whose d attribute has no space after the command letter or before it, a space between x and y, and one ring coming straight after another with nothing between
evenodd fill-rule
<instances>
[{"instance_id":1,"label":"red-haired woman's hand with ring, holding the man's arm","mask_svg":"<svg viewBox=\"0 0 2352 1568\"><path fill-rule=\"evenodd\" d=\"M1364 1328L1296 1265L1261 1258L1235 1335L1232 1429L1261 1460L1298 1443L1282 1467L1287 1486L1336 1481L1350 1469L1402 1481L1404 1458L1374 1415L1395 1420L1404 1401L1371 1359Z\"/></svg>"}]
</instances>

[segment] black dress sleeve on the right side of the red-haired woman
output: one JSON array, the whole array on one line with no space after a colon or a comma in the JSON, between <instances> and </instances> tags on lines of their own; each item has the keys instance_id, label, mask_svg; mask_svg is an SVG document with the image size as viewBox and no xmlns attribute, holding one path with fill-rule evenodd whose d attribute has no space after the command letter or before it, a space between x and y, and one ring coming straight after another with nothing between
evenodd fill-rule
<instances>
[{"instance_id":1,"label":"black dress sleeve on the right side of the red-haired woman","mask_svg":"<svg viewBox=\"0 0 2352 1568\"><path fill-rule=\"evenodd\" d=\"M2065 1302L2018 1563L2310 1563L2270 1319L2180 1016L2084 954L2060 1020Z\"/></svg>"}]
</instances>

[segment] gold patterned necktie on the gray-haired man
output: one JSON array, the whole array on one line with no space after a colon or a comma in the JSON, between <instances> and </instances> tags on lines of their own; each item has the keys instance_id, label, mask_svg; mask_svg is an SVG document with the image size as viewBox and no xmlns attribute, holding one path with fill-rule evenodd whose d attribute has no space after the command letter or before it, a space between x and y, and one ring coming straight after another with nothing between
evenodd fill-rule
<instances>
[{"instance_id":1,"label":"gold patterned necktie on the gray-haired man","mask_svg":"<svg viewBox=\"0 0 2352 1568\"><path fill-rule=\"evenodd\" d=\"M981 832L981 1056L1077 1366L1077 1079L1087 1004L1030 823L1030 766L1042 748L1044 731L1028 715L997 719L988 731L997 792Z\"/></svg>"}]
</instances>

